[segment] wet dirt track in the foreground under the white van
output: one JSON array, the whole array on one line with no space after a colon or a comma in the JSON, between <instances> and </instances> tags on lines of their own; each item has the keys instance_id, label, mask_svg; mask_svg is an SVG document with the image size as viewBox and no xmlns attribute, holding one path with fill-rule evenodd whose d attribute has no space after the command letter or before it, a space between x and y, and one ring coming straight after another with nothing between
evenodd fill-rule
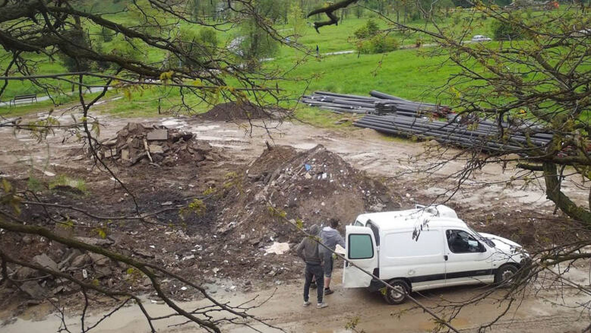
<instances>
[{"instance_id":1,"label":"wet dirt track in the foreground under the white van","mask_svg":"<svg viewBox=\"0 0 591 333\"><path fill-rule=\"evenodd\" d=\"M335 272L336 281L340 279L340 270ZM465 300L475 296L483 286L476 287L450 287L431 290L419 295L413 294L417 300L426 306L435 306L440 299ZM264 318L269 324L285 329L287 332L352 332L345 326L355 318L359 318L357 329L365 332L428 332L435 328L434 321L429 315L420 309L411 309L413 304L407 302L404 305L390 306L381 298L381 295L369 293L365 289L342 289L339 284L335 286L335 293L326 296L329 307L316 309L314 306L303 308L301 300L301 285L288 284L278 286L277 290L268 289L258 293L222 293L217 295L220 300L232 304L245 302L258 296L258 300L272 298L260 308L252 311L252 314ZM498 293L501 295L501 293ZM570 290L565 290L564 299L568 305L576 302L588 301L588 296L576 296ZM312 299L313 300L313 299ZM560 295L547 291L538 295L529 295L516 302L519 306L512 306L507 315L497 324L492 326L493 332L580 332L588 325L588 322L580 316L581 313L569 310L554 303L562 302ZM186 308L204 305L204 302L183 303ZM492 299L487 299L477 305L467 306L452 321L452 325L462 332L475 332L480 325L492 321L503 309ZM165 315L170 310L164 305L148 303L147 309L151 315ZM94 313L87 322L92 323L101 318L103 313ZM66 323L72 331L80 328L79 318L69 318ZM180 319L167 319L157 322L159 332L188 333L195 332L194 326L170 326L180 322ZM4 326L4 333L21 332L51 332L60 326L60 320L56 316L48 316L42 321L17 321ZM263 332L279 332L261 324L255 324L255 328ZM252 332L251 329L241 326L226 326L229 332ZM95 330L93 330L95 331ZM148 327L142 313L136 306L130 306L115 313L106 319L98 328L97 333L127 332L144 333Z\"/></svg>"}]
</instances>

